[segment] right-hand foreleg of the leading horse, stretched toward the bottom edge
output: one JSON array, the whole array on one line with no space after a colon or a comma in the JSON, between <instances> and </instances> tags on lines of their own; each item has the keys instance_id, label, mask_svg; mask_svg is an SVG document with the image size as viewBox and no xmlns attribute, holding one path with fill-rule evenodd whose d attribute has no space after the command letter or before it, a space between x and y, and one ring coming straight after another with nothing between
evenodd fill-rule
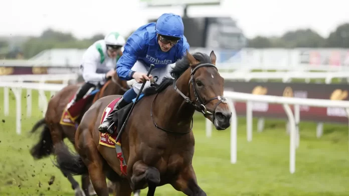
<instances>
[{"instance_id":1,"label":"right-hand foreleg of the leading horse, stretched toward the bottom edge","mask_svg":"<svg viewBox=\"0 0 349 196\"><path fill-rule=\"evenodd\" d=\"M171 183L171 185L179 191L182 191L186 195L191 196L206 196L206 193L203 189L198 185L195 171L193 165L188 165L185 169L183 169L175 182Z\"/></svg>"}]
</instances>

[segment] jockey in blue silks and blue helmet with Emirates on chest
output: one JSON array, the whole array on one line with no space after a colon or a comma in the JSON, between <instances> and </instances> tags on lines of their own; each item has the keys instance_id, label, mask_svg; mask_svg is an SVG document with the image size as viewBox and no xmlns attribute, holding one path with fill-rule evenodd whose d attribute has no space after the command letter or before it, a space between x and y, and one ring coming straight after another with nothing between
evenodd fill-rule
<instances>
[{"instance_id":1,"label":"jockey in blue silks and blue helmet with Emirates on chest","mask_svg":"<svg viewBox=\"0 0 349 196\"><path fill-rule=\"evenodd\" d=\"M162 14L155 22L140 26L127 39L124 51L117 61L116 71L124 80L135 79L133 88L127 90L115 104L113 111L98 127L101 132L113 133L109 128L113 121L114 112L132 102L136 98L142 83L147 80L144 88L150 86L150 79L156 78L161 82L163 77L171 77L170 64L181 59L189 43L184 36L184 24L180 15L173 13ZM146 76L150 64L154 64L149 77ZM156 82L155 81L155 82Z\"/></svg>"}]
</instances>

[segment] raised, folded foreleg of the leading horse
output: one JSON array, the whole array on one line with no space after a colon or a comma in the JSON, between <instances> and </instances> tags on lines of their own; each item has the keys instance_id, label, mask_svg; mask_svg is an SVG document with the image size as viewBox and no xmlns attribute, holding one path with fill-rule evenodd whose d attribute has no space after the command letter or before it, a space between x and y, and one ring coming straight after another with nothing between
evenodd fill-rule
<instances>
[{"instance_id":1,"label":"raised, folded foreleg of the leading horse","mask_svg":"<svg viewBox=\"0 0 349 196\"><path fill-rule=\"evenodd\" d=\"M155 167L139 160L133 164L131 182L133 190L142 189L148 184L147 195L154 195L156 185L160 182L160 173Z\"/></svg>"}]
</instances>

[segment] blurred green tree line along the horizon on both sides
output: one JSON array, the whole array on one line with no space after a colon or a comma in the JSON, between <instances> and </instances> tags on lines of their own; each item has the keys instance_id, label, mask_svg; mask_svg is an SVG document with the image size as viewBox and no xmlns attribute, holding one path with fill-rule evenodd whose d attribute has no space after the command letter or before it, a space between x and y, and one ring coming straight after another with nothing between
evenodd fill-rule
<instances>
[{"instance_id":1,"label":"blurred green tree line along the horizon on both sides","mask_svg":"<svg viewBox=\"0 0 349 196\"><path fill-rule=\"evenodd\" d=\"M129 35L132 32L129 33ZM128 36L129 36L128 35ZM0 57L30 58L39 52L51 48L87 48L93 42L103 39L104 34L95 34L90 38L78 39L70 32L61 32L51 28L44 30L40 36L30 36L15 47L10 47L6 39L0 39ZM248 39L248 47L254 48L294 48L294 47L340 47L349 48L349 23L337 26L328 37L322 37L316 31L296 29L285 32L281 36L256 36ZM9 49L10 48L10 49Z\"/></svg>"}]
</instances>

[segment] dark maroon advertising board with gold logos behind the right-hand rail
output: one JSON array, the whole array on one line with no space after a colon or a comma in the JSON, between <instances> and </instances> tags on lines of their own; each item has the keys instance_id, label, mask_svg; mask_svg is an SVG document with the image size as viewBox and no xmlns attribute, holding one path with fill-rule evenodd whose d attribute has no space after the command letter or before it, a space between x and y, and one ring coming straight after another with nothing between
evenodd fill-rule
<instances>
[{"instance_id":1,"label":"dark maroon advertising board with gold logos behind the right-hand rail","mask_svg":"<svg viewBox=\"0 0 349 196\"><path fill-rule=\"evenodd\" d=\"M300 98L349 100L349 85L347 84L226 81L225 90ZM246 114L245 102L236 102L235 107L238 115ZM286 113L281 104L253 102L252 108L253 116L255 117L264 116L287 119ZM292 105L291 108L293 110ZM307 105L300 105L300 120L348 123L343 108L310 107Z\"/></svg>"}]
</instances>

